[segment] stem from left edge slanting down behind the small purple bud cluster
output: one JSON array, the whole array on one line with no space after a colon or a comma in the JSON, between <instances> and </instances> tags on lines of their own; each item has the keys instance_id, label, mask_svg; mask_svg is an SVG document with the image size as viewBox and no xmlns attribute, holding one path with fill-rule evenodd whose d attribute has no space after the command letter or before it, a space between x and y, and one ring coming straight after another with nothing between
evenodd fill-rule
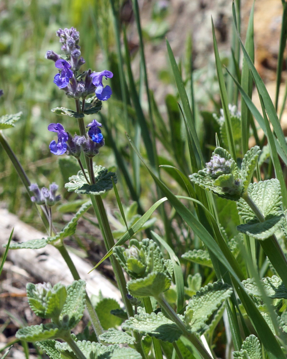
<instances>
[{"instance_id":1,"label":"stem from left edge slanting down behind the small purple bud cluster","mask_svg":"<svg viewBox=\"0 0 287 359\"><path fill-rule=\"evenodd\" d=\"M30 190L29 190L29 186L30 186L30 181L29 178L26 174L26 172L24 171L22 165L20 164L20 162L18 161L18 158L16 157L15 153L13 152L13 150L11 149L11 147L9 146L7 140L5 139L2 131L0 131L0 143L2 145L2 147L4 148L5 152L7 153L8 157L10 158L15 170L18 173L18 176L20 177L21 181L23 182L23 185L25 186L28 195L31 197L30 195ZM42 218L42 221L44 223L44 226L48 229L49 228L49 214L48 214L48 210L46 206L40 206L41 208L41 213L39 212L38 206L35 204L37 212L39 213L39 216Z\"/></svg>"}]
</instances>

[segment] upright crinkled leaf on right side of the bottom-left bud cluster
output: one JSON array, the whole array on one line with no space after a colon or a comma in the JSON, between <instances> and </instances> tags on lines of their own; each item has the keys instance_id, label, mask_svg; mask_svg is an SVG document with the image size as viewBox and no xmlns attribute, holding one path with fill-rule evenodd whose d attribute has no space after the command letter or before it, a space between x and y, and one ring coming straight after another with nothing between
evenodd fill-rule
<instances>
[{"instance_id":1,"label":"upright crinkled leaf on right side of the bottom-left bud cluster","mask_svg":"<svg viewBox=\"0 0 287 359\"><path fill-rule=\"evenodd\" d=\"M74 328L83 317L86 298L85 286L85 281L81 279L75 280L67 286L67 299L60 318L66 317L65 323L69 329Z\"/></svg>"}]
</instances>

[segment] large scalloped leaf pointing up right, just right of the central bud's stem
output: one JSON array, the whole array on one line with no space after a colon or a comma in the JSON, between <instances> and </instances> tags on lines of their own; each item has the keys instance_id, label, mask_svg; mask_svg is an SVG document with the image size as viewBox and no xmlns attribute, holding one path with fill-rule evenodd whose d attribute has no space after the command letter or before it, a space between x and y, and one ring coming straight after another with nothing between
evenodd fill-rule
<instances>
[{"instance_id":1,"label":"large scalloped leaf pointing up right, just right of the central bud's stem","mask_svg":"<svg viewBox=\"0 0 287 359\"><path fill-rule=\"evenodd\" d=\"M184 313L184 321L190 330L203 334L208 329L205 324L208 318L225 299L230 297L231 293L232 289L229 285L218 281L204 286L196 295L193 295Z\"/></svg>"}]
</instances>

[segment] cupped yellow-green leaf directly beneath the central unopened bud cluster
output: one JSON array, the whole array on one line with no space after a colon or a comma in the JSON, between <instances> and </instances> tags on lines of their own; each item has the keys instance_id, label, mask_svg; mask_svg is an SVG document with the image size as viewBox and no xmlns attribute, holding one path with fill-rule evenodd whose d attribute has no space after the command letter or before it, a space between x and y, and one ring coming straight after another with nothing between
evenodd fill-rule
<instances>
[{"instance_id":1,"label":"cupped yellow-green leaf directly beneath the central unopened bud cluster","mask_svg":"<svg viewBox=\"0 0 287 359\"><path fill-rule=\"evenodd\" d=\"M151 272L145 278L132 279L127 289L133 297L157 297L169 289L171 279L164 273Z\"/></svg>"}]
</instances>

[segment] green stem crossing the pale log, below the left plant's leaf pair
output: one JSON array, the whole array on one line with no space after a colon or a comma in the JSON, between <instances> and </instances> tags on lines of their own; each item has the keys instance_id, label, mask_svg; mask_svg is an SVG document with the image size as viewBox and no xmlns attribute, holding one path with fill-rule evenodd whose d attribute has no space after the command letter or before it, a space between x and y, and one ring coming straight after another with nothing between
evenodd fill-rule
<instances>
[{"instance_id":1,"label":"green stem crossing the pale log, below the left plant's leaf pair","mask_svg":"<svg viewBox=\"0 0 287 359\"><path fill-rule=\"evenodd\" d=\"M66 262L68 268L70 269L70 272L73 276L73 278L75 280L79 280L80 279L80 276L79 276L79 273L68 253L68 251L66 250L66 247L61 243L60 245L58 246L55 246L57 248L57 250L61 253L61 256L63 257L63 260ZM95 312L94 310L94 307L92 306L91 304L91 300L86 292L86 308L88 310L88 313L89 313L89 316L90 316L90 320L91 320L91 324L93 326L93 329L95 331L95 334L97 336L97 339L98 341L100 342L99 340L99 335L103 334L103 328L100 324L100 321L99 321L99 318L97 316L97 313Z\"/></svg>"}]
</instances>

